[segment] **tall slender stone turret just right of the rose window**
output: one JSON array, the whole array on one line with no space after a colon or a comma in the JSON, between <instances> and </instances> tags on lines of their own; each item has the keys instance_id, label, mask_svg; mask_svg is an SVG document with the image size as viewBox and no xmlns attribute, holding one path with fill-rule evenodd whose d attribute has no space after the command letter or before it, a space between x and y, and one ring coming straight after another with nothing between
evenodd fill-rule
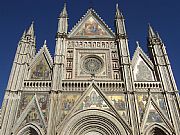
<instances>
[{"instance_id":1,"label":"tall slender stone turret just right of the rose window","mask_svg":"<svg viewBox=\"0 0 180 135\"><path fill-rule=\"evenodd\" d=\"M132 74L130 53L128 48L128 37L125 28L125 19L123 17L123 14L119 10L118 4L116 5L115 28L116 28L116 43L119 53L119 63L121 65L120 71L122 74L122 80L124 81L125 84L125 91L128 93L127 96L130 99L129 113L132 118L131 123L133 125L133 134L138 135L139 126L138 126L138 119L136 116L137 110L136 107L134 106L135 102L133 100L135 99L135 95L130 94L133 93L134 91L134 84L133 84L134 80Z\"/></svg>"}]
</instances>

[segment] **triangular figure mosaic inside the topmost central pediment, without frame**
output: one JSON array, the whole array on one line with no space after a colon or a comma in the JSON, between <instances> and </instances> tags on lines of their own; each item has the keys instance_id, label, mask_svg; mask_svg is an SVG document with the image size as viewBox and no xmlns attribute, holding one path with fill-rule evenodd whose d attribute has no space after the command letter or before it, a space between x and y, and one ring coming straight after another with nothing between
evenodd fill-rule
<instances>
[{"instance_id":1,"label":"triangular figure mosaic inside the topmost central pediment, without frame","mask_svg":"<svg viewBox=\"0 0 180 135\"><path fill-rule=\"evenodd\" d=\"M93 17L90 17L76 36L107 36L107 32L99 26Z\"/></svg>"}]
</instances>

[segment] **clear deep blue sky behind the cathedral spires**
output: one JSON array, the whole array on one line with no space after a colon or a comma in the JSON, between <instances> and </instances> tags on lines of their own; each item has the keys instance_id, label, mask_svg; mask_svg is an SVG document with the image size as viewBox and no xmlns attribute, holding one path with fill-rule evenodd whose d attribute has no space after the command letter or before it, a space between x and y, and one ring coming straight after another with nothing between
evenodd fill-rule
<instances>
[{"instance_id":1,"label":"clear deep blue sky behind the cathedral spires","mask_svg":"<svg viewBox=\"0 0 180 135\"><path fill-rule=\"evenodd\" d=\"M69 30L93 5L95 11L114 30L118 2L126 19L131 56L135 41L147 52L147 24L158 31L166 44L174 76L180 87L180 1L179 0L67 0ZM35 22L37 49L44 40L54 54L57 17L64 0L0 0L0 104L4 97L17 43L25 29Z\"/></svg>"}]
</instances>

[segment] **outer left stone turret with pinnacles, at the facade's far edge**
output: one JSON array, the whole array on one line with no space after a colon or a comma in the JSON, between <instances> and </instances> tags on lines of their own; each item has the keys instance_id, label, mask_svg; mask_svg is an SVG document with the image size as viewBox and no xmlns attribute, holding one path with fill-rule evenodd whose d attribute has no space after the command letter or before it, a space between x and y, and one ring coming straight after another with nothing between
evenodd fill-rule
<instances>
[{"instance_id":1,"label":"outer left stone turret with pinnacles, at the facade's far edge","mask_svg":"<svg viewBox=\"0 0 180 135\"><path fill-rule=\"evenodd\" d=\"M31 24L28 31L24 31L18 43L16 55L14 58L11 74L9 77L6 95L8 95L8 102L6 107L3 107L3 120L1 135L10 135L13 127L16 114L18 111L18 104L23 88L23 81L28 75L28 66L36 52L34 25ZM5 99L6 100L6 99ZM12 111L13 110L13 111Z\"/></svg>"}]
</instances>

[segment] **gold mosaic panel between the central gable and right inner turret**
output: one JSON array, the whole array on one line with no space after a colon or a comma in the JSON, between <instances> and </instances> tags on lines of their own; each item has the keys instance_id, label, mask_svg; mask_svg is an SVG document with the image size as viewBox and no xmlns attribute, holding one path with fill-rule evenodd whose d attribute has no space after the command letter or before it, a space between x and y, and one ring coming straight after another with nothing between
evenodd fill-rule
<instances>
[{"instance_id":1,"label":"gold mosaic panel between the central gable and right inner turret","mask_svg":"<svg viewBox=\"0 0 180 135\"><path fill-rule=\"evenodd\" d=\"M109 95L108 98L112 101L118 113L122 118L127 119L127 104L124 95Z\"/></svg>"}]
</instances>

